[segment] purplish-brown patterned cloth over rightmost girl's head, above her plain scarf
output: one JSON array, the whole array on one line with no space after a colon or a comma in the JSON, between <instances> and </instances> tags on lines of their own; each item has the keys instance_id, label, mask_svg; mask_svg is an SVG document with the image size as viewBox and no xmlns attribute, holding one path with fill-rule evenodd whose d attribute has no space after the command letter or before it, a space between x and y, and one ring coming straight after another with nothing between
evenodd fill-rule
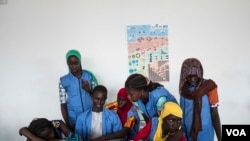
<instances>
[{"instance_id":1,"label":"purplish-brown patterned cloth over rightmost girl's head, above her plain scarf","mask_svg":"<svg viewBox=\"0 0 250 141\"><path fill-rule=\"evenodd\" d=\"M186 81L186 77L188 75L197 75L199 80L202 81L202 79L203 79L203 67L202 67L201 62L198 59L187 58L182 63L180 82L179 82L179 91L181 91L181 89Z\"/></svg>"}]
</instances>

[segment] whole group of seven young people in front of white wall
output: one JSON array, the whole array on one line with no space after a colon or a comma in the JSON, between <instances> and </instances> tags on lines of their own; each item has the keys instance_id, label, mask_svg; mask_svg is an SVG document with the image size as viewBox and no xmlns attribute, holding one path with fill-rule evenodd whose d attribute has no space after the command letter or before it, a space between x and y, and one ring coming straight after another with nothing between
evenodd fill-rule
<instances>
[{"instance_id":1,"label":"whole group of seven young people in front of white wall","mask_svg":"<svg viewBox=\"0 0 250 141\"><path fill-rule=\"evenodd\" d=\"M182 63L179 102L160 83L142 74L127 77L117 100L106 104L108 90L82 68L81 54L66 54L69 73L59 82L63 120L32 120L19 130L28 141L56 141L79 137L83 141L221 141L217 85L203 78L196 58ZM146 125L140 128L141 118ZM77 137L76 137L77 136Z\"/></svg>"}]
</instances>

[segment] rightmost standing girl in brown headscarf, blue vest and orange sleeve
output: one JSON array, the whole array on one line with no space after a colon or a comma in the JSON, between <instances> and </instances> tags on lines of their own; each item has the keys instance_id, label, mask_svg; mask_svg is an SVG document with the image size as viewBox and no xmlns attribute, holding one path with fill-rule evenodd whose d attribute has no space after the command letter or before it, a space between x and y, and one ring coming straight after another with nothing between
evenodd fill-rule
<instances>
[{"instance_id":1,"label":"rightmost standing girl in brown headscarf, blue vest and orange sleeve","mask_svg":"<svg viewBox=\"0 0 250 141\"><path fill-rule=\"evenodd\" d=\"M187 141L213 141L214 131L221 141L217 85L213 80L203 78L203 67L198 59L183 61L179 91L182 127Z\"/></svg>"}]
</instances>

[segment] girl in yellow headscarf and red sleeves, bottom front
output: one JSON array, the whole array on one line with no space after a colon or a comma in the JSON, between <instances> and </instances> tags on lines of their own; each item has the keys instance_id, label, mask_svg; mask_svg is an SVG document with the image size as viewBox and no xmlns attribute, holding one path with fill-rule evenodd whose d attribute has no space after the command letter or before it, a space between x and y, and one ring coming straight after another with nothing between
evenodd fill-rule
<instances>
[{"instance_id":1,"label":"girl in yellow headscarf and red sleeves, bottom front","mask_svg":"<svg viewBox=\"0 0 250 141\"><path fill-rule=\"evenodd\" d=\"M182 109L175 102L166 102L160 116L152 118L133 141L185 141L181 131Z\"/></svg>"}]
</instances>

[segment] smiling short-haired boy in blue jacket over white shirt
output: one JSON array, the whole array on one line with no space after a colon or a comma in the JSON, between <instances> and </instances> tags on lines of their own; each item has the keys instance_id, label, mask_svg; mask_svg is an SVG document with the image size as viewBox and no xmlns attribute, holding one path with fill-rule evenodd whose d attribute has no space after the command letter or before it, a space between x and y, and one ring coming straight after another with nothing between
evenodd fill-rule
<instances>
[{"instance_id":1,"label":"smiling short-haired boy in blue jacket over white shirt","mask_svg":"<svg viewBox=\"0 0 250 141\"><path fill-rule=\"evenodd\" d=\"M116 112L104 108L107 99L107 88L97 85L93 90L93 107L77 117L75 132L83 140L92 140L102 135L111 134L122 129Z\"/></svg>"}]
</instances>

